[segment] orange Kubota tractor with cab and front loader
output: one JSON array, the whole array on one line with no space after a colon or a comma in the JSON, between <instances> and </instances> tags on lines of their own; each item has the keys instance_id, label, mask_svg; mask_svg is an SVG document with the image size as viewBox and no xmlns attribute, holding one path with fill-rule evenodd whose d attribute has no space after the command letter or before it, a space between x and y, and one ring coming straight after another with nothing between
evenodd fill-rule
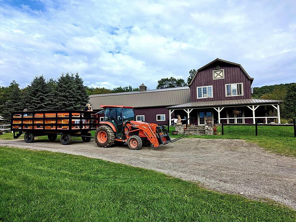
<instances>
[{"instance_id":1,"label":"orange Kubota tractor with cab and front loader","mask_svg":"<svg viewBox=\"0 0 296 222\"><path fill-rule=\"evenodd\" d=\"M104 121L100 121L102 126L95 132L95 142L99 147L127 142L130 149L138 150L142 146L153 144L158 147L160 144L173 142L165 127L135 121L134 107L101 105L100 108L103 110L98 114L104 114Z\"/></svg>"}]
</instances>

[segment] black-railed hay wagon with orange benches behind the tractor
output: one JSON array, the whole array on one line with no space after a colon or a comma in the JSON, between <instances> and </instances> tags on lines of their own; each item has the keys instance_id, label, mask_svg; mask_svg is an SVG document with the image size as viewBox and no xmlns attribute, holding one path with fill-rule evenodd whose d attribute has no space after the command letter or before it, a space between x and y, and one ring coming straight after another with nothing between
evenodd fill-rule
<instances>
[{"instance_id":1,"label":"black-railed hay wagon with orange benches behind the tractor","mask_svg":"<svg viewBox=\"0 0 296 222\"><path fill-rule=\"evenodd\" d=\"M85 123L83 123L84 120ZM72 137L81 137L84 142L90 142L91 130L96 130L99 122L98 114L93 111L54 110L11 113L13 138L17 139L24 133L24 140L28 143L34 142L35 136L48 136L50 141L54 141L57 135L61 135L60 141L63 145L68 145Z\"/></svg>"}]
</instances>

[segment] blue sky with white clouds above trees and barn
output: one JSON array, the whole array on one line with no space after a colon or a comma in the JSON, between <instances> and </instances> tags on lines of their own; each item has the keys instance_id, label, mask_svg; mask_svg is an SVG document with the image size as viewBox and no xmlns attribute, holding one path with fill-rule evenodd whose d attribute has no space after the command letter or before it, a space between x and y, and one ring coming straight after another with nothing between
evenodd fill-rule
<instances>
[{"instance_id":1,"label":"blue sky with white clouds above trees and barn","mask_svg":"<svg viewBox=\"0 0 296 222\"><path fill-rule=\"evenodd\" d=\"M0 0L0 86L77 71L85 85L155 89L215 58L253 86L296 82L296 1Z\"/></svg>"}]
</instances>

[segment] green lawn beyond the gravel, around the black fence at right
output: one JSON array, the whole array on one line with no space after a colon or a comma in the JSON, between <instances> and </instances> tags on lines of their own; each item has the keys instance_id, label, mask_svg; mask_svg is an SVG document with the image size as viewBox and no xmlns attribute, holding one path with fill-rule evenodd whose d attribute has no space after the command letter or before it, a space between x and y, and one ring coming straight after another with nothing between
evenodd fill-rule
<instances>
[{"instance_id":1,"label":"green lawn beyond the gravel, around the black fence at right","mask_svg":"<svg viewBox=\"0 0 296 222\"><path fill-rule=\"evenodd\" d=\"M172 135L175 127L170 127L170 136L178 137L181 135ZM220 126L217 133L221 132ZM258 136L255 136L255 126L224 126L224 135L201 135L188 136L189 138L204 139L245 139L247 142L253 142L260 147L286 156L296 156L296 138L294 137L293 127L273 127L258 126Z\"/></svg>"}]
</instances>

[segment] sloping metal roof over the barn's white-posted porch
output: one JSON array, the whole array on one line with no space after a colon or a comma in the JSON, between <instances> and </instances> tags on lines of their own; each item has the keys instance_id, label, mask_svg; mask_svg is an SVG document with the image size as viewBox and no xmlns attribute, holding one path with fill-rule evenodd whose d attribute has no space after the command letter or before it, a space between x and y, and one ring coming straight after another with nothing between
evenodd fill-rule
<instances>
[{"instance_id":1,"label":"sloping metal roof over the barn's white-posted porch","mask_svg":"<svg viewBox=\"0 0 296 222\"><path fill-rule=\"evenodd\" d=\"M167 109L184 109L184 108L201 108L201 107L219 107L219 106L233 106L233 105L268 105L282 103L282 100L268 100L268 99L227 99L227 100L213 100L203 102L188 102L180 105L169 106Z\"/></svg>"}]
</instances>

